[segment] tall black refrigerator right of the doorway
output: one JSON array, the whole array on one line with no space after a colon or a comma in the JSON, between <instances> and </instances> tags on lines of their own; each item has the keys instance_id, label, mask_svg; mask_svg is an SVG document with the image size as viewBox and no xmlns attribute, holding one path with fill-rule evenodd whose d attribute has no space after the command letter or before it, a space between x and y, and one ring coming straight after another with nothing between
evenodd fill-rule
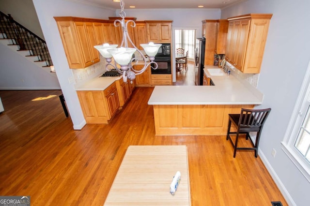
<instances>
[{"instance_id":1,"label":"tall black refrigerator right of the doorway","mask_svg":"<svg viewBox=\"0 0 310 206\"><path fill-rule=\"evenodd\" d=\"M199 86L203 83L205 38L197 38L197 40L199 41L199 59L198 67L195 68L195 85Z\"/></svg>"}]
</instances>

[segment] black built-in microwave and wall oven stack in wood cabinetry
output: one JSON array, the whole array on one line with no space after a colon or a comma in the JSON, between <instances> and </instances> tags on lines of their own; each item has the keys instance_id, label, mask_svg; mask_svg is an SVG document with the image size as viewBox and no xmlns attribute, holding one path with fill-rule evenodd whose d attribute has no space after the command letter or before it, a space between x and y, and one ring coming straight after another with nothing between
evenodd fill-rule
<instances>
[{"instance_id":1,"label":"black built-in microwave and wall oven stack in wood cabinetry","mask_svg":"<svg viewBox=\"0 0 310 206\"><path fill-rule=\"evenodd\" d=\"M171 45L162 44L155 56L155 62L158 64L157 69L151 68L151 74L171 74ZM152 63L151 67L155 68Z\"/></svg>"}]
</instances>

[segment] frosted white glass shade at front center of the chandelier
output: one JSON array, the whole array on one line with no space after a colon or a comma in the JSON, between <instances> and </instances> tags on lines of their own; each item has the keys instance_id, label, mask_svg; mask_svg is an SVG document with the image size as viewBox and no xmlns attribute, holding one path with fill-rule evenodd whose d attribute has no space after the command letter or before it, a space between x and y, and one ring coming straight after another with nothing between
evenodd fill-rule
<instances>
[{"instance_id":1,"label":"frosted white glass shade at front center of the chandelier","mask_svg":"<svg viewBox=\"0 0 310 206\"><path fill-rule=\"evenodd\" d=\"M108 49L108 52L113 56L114 60L119 65L127 65L132 59L132 55L137 49L135 48L113 48Z\"/></svg>"}]
</instances>

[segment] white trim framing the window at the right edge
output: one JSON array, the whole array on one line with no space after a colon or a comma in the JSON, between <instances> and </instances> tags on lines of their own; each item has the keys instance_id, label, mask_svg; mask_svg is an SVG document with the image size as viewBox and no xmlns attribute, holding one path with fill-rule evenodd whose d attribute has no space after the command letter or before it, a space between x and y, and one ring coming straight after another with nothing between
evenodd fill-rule
<instances>
[{"instance_id":1,"label":"white trim framing the window at the right edge","mask_svg":"<svg viewBox=\"0 0 310 206\"><path fill-rule=\"evenodd\" d=\"M299 128L305 118L306 114L299 118L299 111L302 110L305 98L310 94L310 62L299 90L297 100L295 102L294 110L292 112L291 119L289 121L287 130L284 134L283 141L281 142L282 150L294 163L296 168L302 173L302 175L310 182L310 165L307 160L300 154L300 152L294 147L295 141L298 137Z\"/></svg>"}]
</instances>

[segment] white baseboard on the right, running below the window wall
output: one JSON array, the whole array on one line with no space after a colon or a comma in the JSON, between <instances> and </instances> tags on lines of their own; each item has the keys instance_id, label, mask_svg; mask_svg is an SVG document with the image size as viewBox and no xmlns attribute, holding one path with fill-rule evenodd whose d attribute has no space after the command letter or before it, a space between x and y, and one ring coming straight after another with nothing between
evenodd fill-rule
<instances>
[{"instance_id":1,"label":"white baseboard on the right, running below the window wall","mask_svg":"<svg viewBox=\"0 0 310 206\"><path fill-rule=\"evenodd\" d=\"M267 160L266 156L263 154L263 151L260 148L258 149L258 151L259 151L258 154L259 154L263 164L265 165L265 167L268 170L269 174L271 175L271 177L275 181L276 185L278 186L279 190L281 191L281 193L282 193L284 199L286 200L287 204L289 206L296 206L292 196L286 190L285 186L283 185L283 183L280 180L279 176L277 175L276 171L273 169L273 167L271 166L271 164Z\"/></svg>"}]
</instances>

